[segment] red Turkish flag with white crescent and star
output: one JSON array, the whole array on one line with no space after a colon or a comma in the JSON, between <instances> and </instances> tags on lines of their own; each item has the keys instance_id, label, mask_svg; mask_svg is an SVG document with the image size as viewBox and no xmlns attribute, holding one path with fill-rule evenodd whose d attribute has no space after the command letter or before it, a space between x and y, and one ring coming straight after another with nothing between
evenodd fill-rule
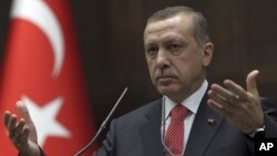
<instances>
[{"instance_id":1,"label":"red Turkish flag with white crescent and star","mask_svg":"<svg viewBox=\"0 0 277 156\"><path fill-rule=\"evenodd\" d=\"M94 134L69 0L14 0L1 80L0 112L28 105L50 156L80 150ZM88 152L91 155L92 152ZM18 152L0 124L0 155Z\"/></svg>"}]
</instances>

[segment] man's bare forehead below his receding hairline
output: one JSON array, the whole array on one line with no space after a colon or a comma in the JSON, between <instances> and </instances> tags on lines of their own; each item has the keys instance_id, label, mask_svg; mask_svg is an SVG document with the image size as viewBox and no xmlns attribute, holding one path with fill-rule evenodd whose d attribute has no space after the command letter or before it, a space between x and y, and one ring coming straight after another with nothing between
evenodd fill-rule
<instances>
[{"instance_id":1,"label":"man's bare forehead below his receding hairline","mask_svg":"<svg viewBox=\"0 0 277 156\"><path fill-rule=\"evenodd\" d=\"M186 35L191 34L193 15L179 13L172 18L151 22L144 30L144 42L164 35Z\"/></svg>"}]
</instances>

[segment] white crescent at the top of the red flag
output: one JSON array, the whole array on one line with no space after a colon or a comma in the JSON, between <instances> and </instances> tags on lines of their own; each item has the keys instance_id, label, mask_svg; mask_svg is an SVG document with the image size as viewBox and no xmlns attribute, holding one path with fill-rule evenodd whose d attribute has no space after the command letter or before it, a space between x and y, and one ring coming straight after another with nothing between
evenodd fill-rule
<instances>
[{"instance_id":1,"label":"white crescent at the top of the red flag","mask_svg":"<svg viewBox=\"0 0 277 156\"><path fill-rule=\"evenodd\" d=\"M60 23L51 8L43 0L14 0L11 18L28 20L45 33L54 55L52 75L58 77L64 60L64 41Z\"/></svg>"}]
</instances>

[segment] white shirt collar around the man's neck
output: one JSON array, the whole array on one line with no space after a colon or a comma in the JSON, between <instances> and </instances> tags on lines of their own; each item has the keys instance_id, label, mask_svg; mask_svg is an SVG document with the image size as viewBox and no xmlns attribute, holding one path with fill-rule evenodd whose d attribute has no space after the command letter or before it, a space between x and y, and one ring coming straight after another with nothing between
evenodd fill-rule
<instances>
[{"instance_id":1,"label":"white shirt collar around the man's neck","mask_svg":"<svg viewBox=\"0 0 277 156\"><path fill-rule=\"evenodd\" d=\"M202 83L201 87L196 90L191 96L185 98L181 104L186 108L188 108L189 112L192 112L193 114L196 114L201 105L201 101L206 93L207 86L208 82L205 80ZM165 118L167 118L171 113L171 110L177 104L167 96L164 97L165 97Z\"/></svg>"}]
</instances>

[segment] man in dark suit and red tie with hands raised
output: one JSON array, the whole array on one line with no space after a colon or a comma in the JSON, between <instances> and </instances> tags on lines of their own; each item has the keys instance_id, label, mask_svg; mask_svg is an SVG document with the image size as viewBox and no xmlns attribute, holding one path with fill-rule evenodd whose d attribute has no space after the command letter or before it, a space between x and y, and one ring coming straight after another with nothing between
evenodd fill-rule
<instances>
[{"instance_id":1,"label":"man in dark suit and red tie with hands raised","mask_svg":"<svg viewBox=\"0 0 277 156\"><path fill-rule=\"evenodd\" d=\"M258 71L248 74L247 89L230 80L208 86L214 45L199 12L171 7L154 13L144 46L152 83L163 97L113 119L94 155L252 156L257 134L277 137L276 110L256 87ZM6 113L10 139L22 155L40 155L29 113L18 105L25 121L16 124L17 116Z\"/></svg>"}]
</instances>

